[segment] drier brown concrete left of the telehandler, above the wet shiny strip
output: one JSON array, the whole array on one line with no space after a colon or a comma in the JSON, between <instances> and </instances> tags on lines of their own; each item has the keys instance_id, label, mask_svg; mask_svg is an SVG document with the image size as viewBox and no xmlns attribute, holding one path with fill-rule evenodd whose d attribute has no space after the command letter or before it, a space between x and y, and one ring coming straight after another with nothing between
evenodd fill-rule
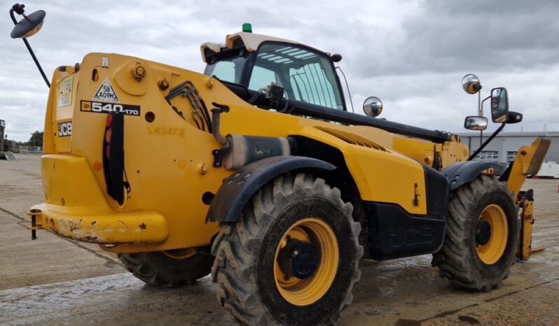
<instances>
[{"instance_id":1,"label":"drier brown concrete left of the telehandler, above the wet shiny strip","mask_svg":"<svg viewBox=\"0 0 559 326\"><path fill-rule=\"evenodd\" d=\"M16 156L0 160L0 290L124 273L97 245L41 231L31 240L26 213L44 200L40 156Z\"/></svg>"}]
</instances>

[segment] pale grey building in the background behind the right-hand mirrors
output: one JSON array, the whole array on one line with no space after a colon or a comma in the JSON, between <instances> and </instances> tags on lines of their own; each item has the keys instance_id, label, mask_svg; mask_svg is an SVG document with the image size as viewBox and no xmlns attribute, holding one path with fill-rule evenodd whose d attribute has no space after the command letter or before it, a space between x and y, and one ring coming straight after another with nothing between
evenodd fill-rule
<instances>
[{"instance_id":1,"label":"pale grey building in the background behind the right-hand mirrors","mask_svg":"<svg viewBox=\"0 0 559 326\"><path fill-rule=\"evenodd\" d=\"M483 132L483 141L492 132ZM462 143L470 148L470 153L479 148L479 132L458 133ZM530 145L536 137L551 139L551 146L544 161L559 163L559 132L501 132L479 153L477 160L509 163L516 158L518 148Z\"/></svg>"}]
</instances>

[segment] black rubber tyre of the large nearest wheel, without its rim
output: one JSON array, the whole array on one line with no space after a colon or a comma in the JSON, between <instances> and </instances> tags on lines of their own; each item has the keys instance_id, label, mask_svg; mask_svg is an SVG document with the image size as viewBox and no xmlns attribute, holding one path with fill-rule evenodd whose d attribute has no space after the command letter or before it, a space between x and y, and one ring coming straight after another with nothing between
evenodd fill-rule
<instances>
[{"instance_id":1,"label":"black rubber tyre of the large nearest wheel, without its rim","mask_svg":"<svg viewBox=\"0 0 559 326\"><path fill-rule=\"evenodd\" d=\"M258 190L235 223L222 223L212 253L212 279L219 283L217 299L244 325L332 325L352 302L359 281L361 225L352 218L353 206L340 190L310 175L279 176ZM340 260L334 281L317 302L296 306L279 294L273 264L284 232L295 222L319 218L333 230Z\"/></svg>"}]
</instances>

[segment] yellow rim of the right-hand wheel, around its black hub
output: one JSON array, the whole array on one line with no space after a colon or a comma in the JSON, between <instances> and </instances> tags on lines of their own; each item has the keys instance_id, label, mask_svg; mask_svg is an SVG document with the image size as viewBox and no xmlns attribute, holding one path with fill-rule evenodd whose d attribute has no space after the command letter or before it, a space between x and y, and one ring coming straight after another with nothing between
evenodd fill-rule
<instances>
[{"instance_id":1,"label":"yellow rim of the right-hand wheel, around its black hub","mask_svg":"<svg viewBox=\"0 0 559 326\"><path fill-rule=\"evenodd\" d=\"M491 236L488 243L476 246L478 257L485 264L495 264L503 255L506 241L509 237L509 225L506 222L506 214L501 206L491 204L483 209L479 220L489 223Z\"/></svg>"}]
</instances>

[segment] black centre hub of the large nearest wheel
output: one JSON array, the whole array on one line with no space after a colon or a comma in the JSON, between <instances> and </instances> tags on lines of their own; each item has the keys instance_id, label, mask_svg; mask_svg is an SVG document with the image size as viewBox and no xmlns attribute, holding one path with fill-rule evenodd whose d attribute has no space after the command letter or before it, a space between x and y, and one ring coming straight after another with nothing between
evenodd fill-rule
<instances>
[{"instance_id":1,"label":"black centre hub of the large nearest wheel","mask_svg":"<svg viewBox=\"0 0 559 326\"><path fill-rule=\"evenodd\" d=\"M279 268L286 276L309 278L320 262L317 248L312 243L289 239L287 245L279 251Z\"/></svg>"}]
</instances>

